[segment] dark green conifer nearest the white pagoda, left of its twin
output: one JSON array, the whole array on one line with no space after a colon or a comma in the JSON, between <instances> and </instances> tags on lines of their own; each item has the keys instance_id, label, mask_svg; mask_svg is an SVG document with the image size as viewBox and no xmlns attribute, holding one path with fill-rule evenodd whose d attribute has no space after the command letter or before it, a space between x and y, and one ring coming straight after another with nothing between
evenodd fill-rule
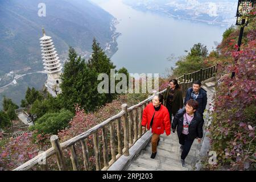
<instances>
[{"instance_id":1,"label":"dark green conifer nearest the white pagoda, left of its twin","mask_svg":"<svg viewBox=\"0 0 256 182\"><path fill-rule=\"evenodd\" d=\"M61 80L60 102L65 109L75 113L74 105L80 104L90 111L105 103L105 95L97 91L99 81L95 68L89 68L72 47L69 48L69 59L64 65Z\"/></svg>"}]
</instances>

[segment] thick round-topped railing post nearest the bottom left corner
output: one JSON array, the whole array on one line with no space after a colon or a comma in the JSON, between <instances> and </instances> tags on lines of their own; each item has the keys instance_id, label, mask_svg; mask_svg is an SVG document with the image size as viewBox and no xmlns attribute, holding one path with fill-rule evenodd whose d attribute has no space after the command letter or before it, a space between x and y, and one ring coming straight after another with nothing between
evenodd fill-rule
<instances>
[{"instance_id":1,"label":"thick round-topped railing post nearest the bottom left corner","mask_svg":"<svg viewBox=\"0 0 256 182\"><path fill-rule=\"evenodd\" d=\"M63 153L61 151L59 138L57 137L57 135L52 135L51 144L52 144L52 147L54 148L54 150L56 152L57 165L59 167L59 170L60 171L65 171L64 156L63 156Z\"/></svg>"}]
</instances>

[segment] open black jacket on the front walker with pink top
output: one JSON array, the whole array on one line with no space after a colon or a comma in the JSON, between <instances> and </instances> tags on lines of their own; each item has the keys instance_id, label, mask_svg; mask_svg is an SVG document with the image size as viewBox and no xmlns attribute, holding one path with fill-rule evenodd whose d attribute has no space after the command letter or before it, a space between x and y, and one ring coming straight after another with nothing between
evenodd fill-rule
<instances>
[{"instance_id":1,"label":"open black jacket on the front walker with pink top","mask_svg":"<svg viewBox=\"0 0 256 182\"><path fill-rule=\"evenodd\" d=\"M177 111L177 114L174 117L174 121L172 121L172 130L176 130L177 127L177 135L180 138L180 135L183 130L183 115L185 114L185 107ZM203 137L203 125L204 120L200 113L197 111L194 114L194 117L191 123L188 125L188 137L193 140L195 138Z\"/></svg>"}]
</instances>

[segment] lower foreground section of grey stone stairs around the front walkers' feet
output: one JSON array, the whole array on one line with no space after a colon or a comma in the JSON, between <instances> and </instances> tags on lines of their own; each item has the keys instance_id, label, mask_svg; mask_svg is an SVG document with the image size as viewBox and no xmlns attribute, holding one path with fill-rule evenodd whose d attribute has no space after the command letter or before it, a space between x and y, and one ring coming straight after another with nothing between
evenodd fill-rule
<instances>
[{"instance_id":1,"label":"lower foreground section of grey stone stairs around the front walkers' feet","mask_svg":"<svg viewBox=\"0 0 256 182\"><path fill-rule=\"evenodd\" d=\"M177 134L160 135L155 159L151 159L151 142L133 159L127 171L187 171L192 170L199 154L200 144L195 140L185 159L186 167L180 164L180 144Z\"/></svg>"}]
</instances>

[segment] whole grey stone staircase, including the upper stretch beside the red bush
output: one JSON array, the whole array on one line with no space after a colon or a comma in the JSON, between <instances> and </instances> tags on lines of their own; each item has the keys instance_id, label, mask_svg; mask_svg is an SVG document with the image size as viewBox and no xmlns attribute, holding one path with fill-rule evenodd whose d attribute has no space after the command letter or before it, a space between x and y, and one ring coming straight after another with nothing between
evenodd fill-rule
<instances>
[{"instance_id":1,"label":"whole grey stone staircase, including the upper stretch beside the red bush","mask_svg":"<svg viewBox=\"0 0 256 182\"><path fill-rule=\"evenodd\" d=\"M207 90L208 104L207 110L211 110L212 106L209 104L212 103L212 97L215 92L214 86L216 81L214 78L209 78L203 82L202 87ZM205 125L209 125L208 122L208 113L205 112ZM205 132L204 132L205 137ZM202 146L203 144L203 146ZM160 135L160 142L157 148L157 154L155 159L151 159L151 142L149 141L147 146L144 147L141 152L134 156L131 160L131 163L123 168L127 171L188 171L195 170L196 163L200 159L200 151L202 148L207 148L209 143L204 141L204 138L201 140L201 143L197 142L197 139L194 140L191 150L187 158L185 159L186 166L181 167L180 163L180 144L177 138L177 133L169 135L166 134Z\"/></svg>"}]
</instances>

